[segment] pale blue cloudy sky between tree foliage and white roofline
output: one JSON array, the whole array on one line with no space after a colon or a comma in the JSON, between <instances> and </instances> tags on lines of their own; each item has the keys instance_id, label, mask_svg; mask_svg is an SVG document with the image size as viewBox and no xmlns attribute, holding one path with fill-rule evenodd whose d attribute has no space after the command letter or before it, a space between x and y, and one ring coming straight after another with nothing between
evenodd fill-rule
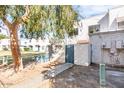
<instances>
[{"instance_id":1,"label":"pale blue cloudy sky between tree foliage and white roofline","mask_svg":"<svg viewBox=\"0 0 124 93\"><path fill-rule=\"evenodd\" d=\"M76 9L79 14L84 17L91 17L94 15L102 14L108 11L115 6L113 5L75 5L74 9Z\"/></svg>"}]
</instances>

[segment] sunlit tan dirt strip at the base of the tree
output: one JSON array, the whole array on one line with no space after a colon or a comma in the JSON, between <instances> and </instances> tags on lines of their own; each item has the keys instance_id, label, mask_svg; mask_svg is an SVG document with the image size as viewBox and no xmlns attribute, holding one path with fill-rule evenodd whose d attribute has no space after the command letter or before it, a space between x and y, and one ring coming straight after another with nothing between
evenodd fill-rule
<instances>
[{"instance_id":1,"label":"sunlit tan dirt strip at the base of the tree","mask_svg":"<svg viewBox=\"0 0 124 93\"><path fill-rule=\"evenodd\" d=\"M15 73L13 68L0 69L0 87L11 87L28 81L36 76L40 76L45 71L54 68L61 63L31 63L26 66L23 71Z\"/></svg>"}]
</instances>

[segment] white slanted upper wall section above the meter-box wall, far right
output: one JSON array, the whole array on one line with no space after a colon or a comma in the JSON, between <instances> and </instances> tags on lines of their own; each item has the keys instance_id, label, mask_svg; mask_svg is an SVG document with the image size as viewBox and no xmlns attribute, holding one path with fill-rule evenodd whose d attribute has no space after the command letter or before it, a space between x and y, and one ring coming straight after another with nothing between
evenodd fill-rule
<instances>
[{"instance_id":1,"label":"white slanted upper wall section above the meter-box wall, far right","mask_svg":"<svg viewBox=\"0 0 124 93\"><path fill-rule=\"evenodd\" d=\"M106 13L106 15L101 20L99 20L100 31L106 32L106 31L122 30L122 29L118 29L117 18L124 17L123 11L124 11L124 6L119 6L119 7L110 9Z\"/></svg>"}]
</instances>

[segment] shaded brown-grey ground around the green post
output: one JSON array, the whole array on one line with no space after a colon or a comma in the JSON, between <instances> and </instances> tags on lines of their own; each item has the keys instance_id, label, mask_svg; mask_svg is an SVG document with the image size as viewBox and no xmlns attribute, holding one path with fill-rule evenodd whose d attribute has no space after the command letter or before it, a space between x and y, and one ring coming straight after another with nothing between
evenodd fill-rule
<instances>
[{"instance_id":1,"label":"shaded brown-grey ground around the green post","mask_svg":"<svg viewBox=\"0 0 124 93\"><path fill-rule=\"evenodd\" d=\"M114 73L114 74L113 74ZM124 72L106 69L106 83L104 87L124 87ZM115 76L116 73L116 76ZM118 74L117 74L118 73ZM122 74L120 74L122 73ZM88 67L74 65L72 68L62 72L51 79L53 88L100 88L99 67L91 65Z\"/></svg>"}]
</instances>

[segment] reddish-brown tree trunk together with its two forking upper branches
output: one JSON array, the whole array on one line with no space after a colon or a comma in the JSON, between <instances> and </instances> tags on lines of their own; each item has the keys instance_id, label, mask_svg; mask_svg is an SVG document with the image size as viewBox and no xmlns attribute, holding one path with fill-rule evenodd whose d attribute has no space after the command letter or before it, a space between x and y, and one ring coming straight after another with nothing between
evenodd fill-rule
<instances>
[{"instance_id":1,"label":"reddish-brown tree trunk together with its two forking upper branches","mask_svg":"<svg viewBox=\"0 0 124 93\"><path fill-rule=\"evenodd\" d=\"M22 17L16 18L13 23L10 23L7 20L6 16L2 18L4 24L8 27L10 31L10 47L11 47L15 72L18 72L19 70L23 69L17 32L18 32L19 24L21 24L22 22L28 19L28 14L29 14L29 7L26 6L25 14Z\"/></svg>"}]
</instances>

